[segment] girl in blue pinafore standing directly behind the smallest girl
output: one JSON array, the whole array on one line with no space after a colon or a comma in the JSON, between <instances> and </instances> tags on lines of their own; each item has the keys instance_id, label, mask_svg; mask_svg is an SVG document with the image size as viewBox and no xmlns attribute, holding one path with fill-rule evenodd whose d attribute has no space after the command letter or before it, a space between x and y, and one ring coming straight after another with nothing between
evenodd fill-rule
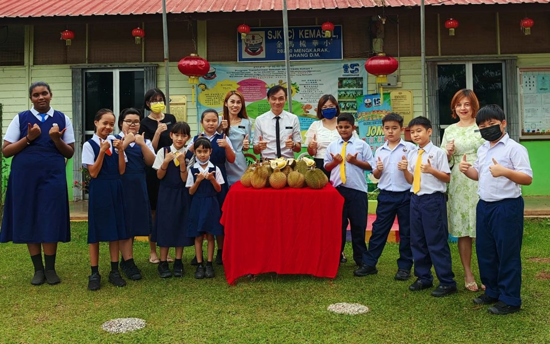
<instances>
[{"instance_id":1,"label":"girl in blue pinafore standing directly behind the smallest girl","mask_svg":"<svg viewBox=\"0 0 550 344\"><path fill-rule=\"evenodd\" d=\"M205 137L210 140L212 145L212 155L210 161L213 165L219 168L224 184L222 185L222 190L218 192L218 204L220 211L222 210L223 201L226 198L226 194L229 191L229 184L227 180L226 173L226 162L233 164L235 162L235 151L231 144L231 141L226 136L226 134L218 134L216 131L218 129L218 113L214 109L206 109L202 112L201 115L201 124L204 127L203 132L200 135L197 135L189 142L191 147L194 141L199 137ZM191 148L189 149L191 151ZM190 155L188 156L190 157ZM216 235L216 241L218 243L218 252L216 253L216 264L222 264L222 249L223 249L223 231L221 234ZM194 258L194 260L196 257ZM191 263L193 264L193 263Z\"/></svg>"}]
</instances>

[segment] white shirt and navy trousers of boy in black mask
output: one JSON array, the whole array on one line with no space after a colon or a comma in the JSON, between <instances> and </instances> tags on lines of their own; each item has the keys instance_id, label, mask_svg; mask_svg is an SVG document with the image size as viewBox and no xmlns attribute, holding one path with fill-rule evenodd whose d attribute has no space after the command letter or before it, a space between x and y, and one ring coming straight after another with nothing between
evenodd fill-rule
<instances>
[{"instance_id":1,"label":"white shirt and navy trousers of boy in black mask","mask_svg":"<svg viewBox=\"0 0 550 344\"><path fill-rule=\"evenodd\" d=\"M524 201L521 186L507 177L493 177L493 158L503 167L533 176L527 149L505 134L493 147L477 150L478 173L476 252L485 293L509 306L521 306L521 241Z\"/></svg>"}]
</instances>

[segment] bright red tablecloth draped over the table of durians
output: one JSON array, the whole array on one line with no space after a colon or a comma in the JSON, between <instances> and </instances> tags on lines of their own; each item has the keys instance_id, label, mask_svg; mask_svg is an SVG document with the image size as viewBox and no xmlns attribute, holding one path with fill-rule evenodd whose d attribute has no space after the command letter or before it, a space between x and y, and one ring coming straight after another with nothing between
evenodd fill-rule
<instances>
[{"instance_id":1,"label":"bright red tablecloth draped over the table of durians","mask_svg":"<svg viewBox=\"0 0 550 344\"><path fill-rule=\"evenodd\" d=\"M334 278L344 198L327 184L282 190L232 185L223 203L223 267L229 284L248 274Z\"/></svg>"}]
</instances>

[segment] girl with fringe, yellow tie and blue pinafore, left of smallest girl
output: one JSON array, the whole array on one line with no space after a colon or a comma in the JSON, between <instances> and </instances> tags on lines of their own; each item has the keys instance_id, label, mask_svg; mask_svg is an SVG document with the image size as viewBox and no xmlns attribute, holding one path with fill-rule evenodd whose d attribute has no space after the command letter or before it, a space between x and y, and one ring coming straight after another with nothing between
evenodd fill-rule
<instances>
[{"instance_id":1,"label":"girl with fringe, yellow tie and blue pinafore, left of smallest girl","mask_svg":"<svg viewBox=\"0 0 550 344\"><path fill-rule=\"evenodd\" d=\"M189 220L191 197L185 188L187 167L185 164L185 143L191 129L185 122L174 124L170 131L172 146L162 147L157 152L153 169L161 180L158 188L157 214L151 241L160 247L161 262L158 275L161 278L181 277L184 273L182 255L184 246L193 246L194 237L189 237L186 226ZM174 273L168 268L168 249L175 247Z\"/></svg>"}]
</instances>

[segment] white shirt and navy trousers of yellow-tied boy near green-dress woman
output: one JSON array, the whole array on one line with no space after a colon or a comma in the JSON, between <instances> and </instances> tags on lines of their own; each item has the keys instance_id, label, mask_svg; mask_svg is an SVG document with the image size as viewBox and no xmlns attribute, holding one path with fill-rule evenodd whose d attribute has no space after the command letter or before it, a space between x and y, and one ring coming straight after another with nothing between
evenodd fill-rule
<instances>
[{"instance_id":1,"label":"white shirt and navy trousers of yellow-tied boy near green-dress woman","mask_svg":"<svg viewBox=\"0 0 550 344\"><path fill-rule=\"evenodd\" d=\"M409 152L409 172L414 175L419 151L422 164L430 159L432 167L444 173L450 173L447 154L443 149L429 142L423 148ZM419 166L420 168L420 166ZM451 267L449 229L447 223L447 204L445 191L447 184L429 173L420 174L420 191L414 193L414 182L410 187L410 242L414 260L414 274L424 284L431 284L432 264L437 279L442 286L456 287Z\"/></svg>"}]
</instances>

